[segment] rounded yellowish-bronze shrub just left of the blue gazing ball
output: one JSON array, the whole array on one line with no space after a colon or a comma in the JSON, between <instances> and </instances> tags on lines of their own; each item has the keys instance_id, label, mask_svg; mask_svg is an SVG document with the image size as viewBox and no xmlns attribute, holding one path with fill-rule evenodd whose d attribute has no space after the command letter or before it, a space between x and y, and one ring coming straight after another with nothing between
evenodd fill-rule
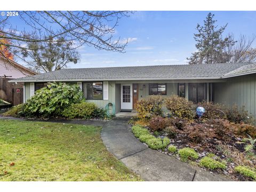
<instances>
[{"instance_id":1,"label":"rounded yellowish-bronze shrub just left of the blue gazing ball","mask_svg":"<svg viewBox=\"0 0 256 192\"><path fill-rule=\"evenodd\" d=\"M195 107L193 102L185 98L172 95L165 99L165 106L170 110L174 117L181 117L184 119L193 119L195 117Z\"/></svg>"}]
</instances>

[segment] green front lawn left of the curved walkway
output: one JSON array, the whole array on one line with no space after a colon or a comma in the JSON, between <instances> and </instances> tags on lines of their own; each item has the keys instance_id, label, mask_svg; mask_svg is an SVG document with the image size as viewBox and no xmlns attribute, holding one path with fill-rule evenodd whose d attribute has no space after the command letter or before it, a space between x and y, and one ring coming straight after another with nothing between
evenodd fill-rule
<instances>
[{"instance_id":1,"label":"green front lawn left of the curved walkway","mask_svg":"<svg viewBox=\"0 0 256 192\"><path fill-rule=\"evenodd\" d=\"M140 180L107 151L100 130L90 125L0 120L0 181Z\"/></svg>"}]
</instances>

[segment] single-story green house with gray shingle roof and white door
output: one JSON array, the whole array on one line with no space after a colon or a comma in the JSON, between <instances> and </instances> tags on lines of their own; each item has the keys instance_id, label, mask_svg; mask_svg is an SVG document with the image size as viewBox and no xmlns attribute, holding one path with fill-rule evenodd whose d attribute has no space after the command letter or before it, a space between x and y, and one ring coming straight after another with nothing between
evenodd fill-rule
<instances>
[{"instance_id":1,"label":"single-story green house with gray shingle roof and white door","mask_svg":"<svg viewBox=\"0 0 256 192\"><path fill-rule=\"evenodd\" d=\"M176 94L194 102L237 103L256 114L256 63L62 69L11 82L25 83L25 100L47 82L78 84L88 102L113 102L116 112L134 109L148 95Z\"/></svg>"}]
</instances>

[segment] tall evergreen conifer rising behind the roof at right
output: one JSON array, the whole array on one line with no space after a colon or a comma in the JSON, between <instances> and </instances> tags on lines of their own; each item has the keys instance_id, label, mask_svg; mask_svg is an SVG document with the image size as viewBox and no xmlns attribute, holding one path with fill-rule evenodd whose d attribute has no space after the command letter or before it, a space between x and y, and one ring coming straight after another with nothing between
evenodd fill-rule
<instances>
[{"instance_id":1,"label":"tall evergreen conifer rising behind the roof at right","mask_svg":"<svg viewBox=\"0 0 256 192\"><path fill-rule=\"evenodd\" d=\"M225 48L235 42L230 36L222 38L222 33L228 24L217 29L218 26L215 25L217 20L214 20L213 17L214 14L209 13L203 26L197 24L198 34L194 34L197 51L187 58L189 64L223 63L229 60Z\"/></svg>"}]
</instances>

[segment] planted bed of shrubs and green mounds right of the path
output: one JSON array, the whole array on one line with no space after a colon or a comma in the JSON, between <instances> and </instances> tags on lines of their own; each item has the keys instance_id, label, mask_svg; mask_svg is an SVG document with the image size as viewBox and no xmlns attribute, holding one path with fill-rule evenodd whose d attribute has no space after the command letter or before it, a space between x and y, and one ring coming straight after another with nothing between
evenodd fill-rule
<instances>
[{"instance_id":1,"label":"planted bed of shrubs and green mounds right of the path","mask_svg":"<svg viewBox=\"0 0 256 192\"><path fill-rule=\"evenodd\" d=\"M205 108L201 118L195 113L198 106ZM129 122L143 130L141 142L198 169L239 181L255 180L256 126L244 107L191 103L177 96L163 99L164 107L169 110L162 115L139 115ZM170 144L163 145L163 138Z\"/></svg>"}]
</instances>

